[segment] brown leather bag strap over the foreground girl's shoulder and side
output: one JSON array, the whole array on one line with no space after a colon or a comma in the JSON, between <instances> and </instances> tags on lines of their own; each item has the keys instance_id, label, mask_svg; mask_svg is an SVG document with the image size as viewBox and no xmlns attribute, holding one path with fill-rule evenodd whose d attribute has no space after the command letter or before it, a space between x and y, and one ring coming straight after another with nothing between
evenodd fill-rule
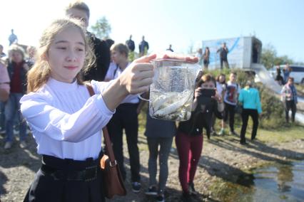
<instances>
[{"instance_id":1,"label":"brown leather bag strap over the foreground girl's shoulder and side","mask_svg":"<svg viewBox=\"0 0 304 202\"><path fill-rule=\"evenodd\" d=\"M88 89L88 93L90 94L90 96L95 95L95 92L93 90L93 87L91 86L90 83L85 83L86 88ZM103 127L102 129L102 133L103 133L103 138L106 144L106 152L108 154L108 159L110 159L110 166L116 166L116 160L115 160L115 156L114 156L114 152L113 152L113 147L112 147L112 143L111 143L111 139L108 135L108 129L106 127Z\"/></svg>"}]
</instances>

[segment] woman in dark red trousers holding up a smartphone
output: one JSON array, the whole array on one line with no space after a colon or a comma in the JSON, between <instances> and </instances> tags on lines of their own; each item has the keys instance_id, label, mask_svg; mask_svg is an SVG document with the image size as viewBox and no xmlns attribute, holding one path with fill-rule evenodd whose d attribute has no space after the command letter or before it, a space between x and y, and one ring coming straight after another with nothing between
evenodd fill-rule
<instances>
[{"instance_id":1,"label":"woman in dark red trousers holding up a smartphone","mask_svg":"<svg viewBox=\"0 0 304 202\"><path fill-rule=\"evenodd\" d=\"M191 118L178 124L176 135L180 159L178 177L183 189L183 201L191 201L191 194L196 194L193 179L203 149L203 127L210 138L211 117L213 113L221 117L223 112L223 101L211 75L203 75L196 86Z\"/></svg>"}]
</instances>

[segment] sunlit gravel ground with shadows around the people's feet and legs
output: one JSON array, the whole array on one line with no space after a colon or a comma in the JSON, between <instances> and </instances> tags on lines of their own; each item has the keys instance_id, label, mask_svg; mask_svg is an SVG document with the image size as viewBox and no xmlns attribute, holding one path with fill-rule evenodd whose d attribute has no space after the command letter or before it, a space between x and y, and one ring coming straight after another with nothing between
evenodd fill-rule
<instances>
[{"instance_id":1,"label":"sunlit gravel ground with shadows around the people's feet and legs","mask_svg":"<svg viewBox=\"0 0 304 202\"><path fill-rule=\"evenodd\" d=\"M128 175L126 180L127 196L114 197L111 201L153 201L153 198L144 194L148 186L146 138L141 135L138 141L142 165L142 191L137 194L132 193L128 179L130 175ZM10 151L5 151L3 149L4 137L0 136L0 201L22 201L34 179L34 174L39 169L41 158L36 154L36 143L31 136L27 142L29 146L26 149L21 149L16 141ZM175 147L174 143L173 147ZM125 154L126 166L129 168L128 152L126 151ZM202 157L194 181L196 191L200 194L194 197L194 201L220 201L216 193L212 193L210 188L218 179L235 183L238 176L244 174L245 170L253 169L260 164L296 159L304 159L304 139L284 144L264 144L257 140L249 142L247 146L240 146L238 137L235 136L211 137L211 140L205 141L203 144ZM178 156L174 148L171 151L168 165L166 201L181 201Z\"/></svg>"}]
</instances>

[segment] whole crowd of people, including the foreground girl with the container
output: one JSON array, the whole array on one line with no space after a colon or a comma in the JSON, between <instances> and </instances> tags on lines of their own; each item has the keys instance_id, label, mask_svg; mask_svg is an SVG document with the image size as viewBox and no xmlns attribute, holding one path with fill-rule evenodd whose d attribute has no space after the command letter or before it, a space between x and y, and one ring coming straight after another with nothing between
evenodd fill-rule
<instances>
[{"instance_id":1,"label":"whole crowd of people, including the foreground girl with the container","mask_svg":"<svg viewBox=\"0 0 304 202\"><path fill-rule=\"evenodd\" d=\"M133 60L136 46L132 36L126 43L114 43L96 38L86 30L90 11L83 2L69 4L66 16L69 18L58 19L46 28L37 50L29 47L25 51L16 43L16 35L10 36L7 60L2 60L6 54L0 46L0 127L1 133L6 135L4 149L11 149L14 143L14 127L19 128L20 147L26 148L29 126L37 152L42 155L41 169L24 201L104 201L98 169L98 159L103 155L100 133L103 127L108 128L116 161L126 181L124 130L130 156L131 187L138 193L141 191L138 114L144 102L137 94L146 92L148 97L147 91L153 82L153 66L149 62L162 56L192 62L202 60L207 69L210 50L208 47L204 53L199 50L199 58L147 55L149 46L143 36L138 44L141 58ZM167 50L173 52L172 46ZM223 65L229 68L226 43L218 53L221 69ZM133 55L131 60L130 55ZM297 95L293 78L286 77L282 90L286 120L292 110L294 121ZM90 96L86 85L91 85L96 95ZM156 196L156 201L165 201L168 156L175 138L183 201L191 201L192 195L197 194L193 180L203 150L203 134L208 139L211 135L224 135L229 122L229 134L238 136L234 120L239 108L242 109L240 144L247 144L248 117L253 119L251 140L254 141L262 107L253 81L242 88L237 83L236 73L230 73L228 81L224 74L216 78L208 73L199 75L191 118L186 122L176 125L153 119L147 112L144 134L149 151L149 186L145 193ZM216 119L220 119L219 132L216 132ZM95 173L90 179L80 174L87 170Z\"/></svg>"}]
</instances>

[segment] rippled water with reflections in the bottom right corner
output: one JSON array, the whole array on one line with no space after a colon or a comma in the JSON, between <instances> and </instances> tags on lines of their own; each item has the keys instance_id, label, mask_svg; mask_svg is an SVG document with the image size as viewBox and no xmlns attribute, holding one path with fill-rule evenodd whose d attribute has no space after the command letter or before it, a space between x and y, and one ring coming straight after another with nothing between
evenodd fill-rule
<instances>
[{"instance_id":1,"label":"rippled water with reflections in the bottom right corner","mask_svg":"<svg viewBox=\"0 0 304 202\"><path fill-rule=\"evenodd\" d=\"M304 161L275 164L253 173L239 176L230 196L222 201L304 201Z\"/></svg>"}]
</instances>

